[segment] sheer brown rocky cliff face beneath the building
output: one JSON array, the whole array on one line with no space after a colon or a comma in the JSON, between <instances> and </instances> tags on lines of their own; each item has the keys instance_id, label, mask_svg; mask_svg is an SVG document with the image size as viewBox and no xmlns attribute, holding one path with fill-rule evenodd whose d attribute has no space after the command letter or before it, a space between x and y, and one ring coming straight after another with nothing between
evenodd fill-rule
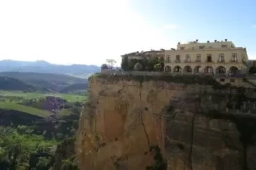
<instances>
[{"instance_id":1,"label":"sheer brown rocky cliff face beneath the building","mask_svg":"<svg viewBox=\"0 0 256 170\"><path fill-rule=\"evenodd\" d=\"M81 170L256 169L254 90L206 77L99 75L89 93Z\"/></svg>"}]
</instances>

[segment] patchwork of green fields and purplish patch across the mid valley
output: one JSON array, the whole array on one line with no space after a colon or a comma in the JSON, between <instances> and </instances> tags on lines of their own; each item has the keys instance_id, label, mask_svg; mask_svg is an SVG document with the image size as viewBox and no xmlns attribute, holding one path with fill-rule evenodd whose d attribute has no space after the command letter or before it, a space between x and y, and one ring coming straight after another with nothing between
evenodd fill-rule
<instances>
[{"instance_id":1,"label":"patchwork of green fields and purplish patch across the mid valley","mask_svg":"<svg viewBox=\"0 0 256 170\"><path fill-rule=\"evenodd\" d=\"M66 100L47 100L46 97L54 96ZM67 116L73 113L75 102L83 103L87 100L86 95L64 93L32 93L23 91L0 91L0 108L4 110L16 110L40 117ZM61 103L62 102L62 103ZM65 108L60 108L64 106ZM68 107L69 106L69 107ZM66 108L67 107L67 108Z\"/></svg>"}]
</instances>

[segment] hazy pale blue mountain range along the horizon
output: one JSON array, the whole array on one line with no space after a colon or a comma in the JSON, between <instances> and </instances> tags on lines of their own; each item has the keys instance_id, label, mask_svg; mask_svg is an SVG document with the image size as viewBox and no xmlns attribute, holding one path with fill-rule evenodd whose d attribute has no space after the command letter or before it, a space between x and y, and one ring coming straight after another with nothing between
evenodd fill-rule
<instances>
[{"instance_id":1,"label":"hazy pale blue mountain range along the horizon","mask_svg":"<svg viewBox=\"0 0 256 170\"><path fill-rule=\"evenodd\" d=\"M0 61L0 72L37 72L37 73L58 73L69 75L87 75L99 72L100 67L95 65L57 65L46 61Z\"/></svg>"}]
</instances>

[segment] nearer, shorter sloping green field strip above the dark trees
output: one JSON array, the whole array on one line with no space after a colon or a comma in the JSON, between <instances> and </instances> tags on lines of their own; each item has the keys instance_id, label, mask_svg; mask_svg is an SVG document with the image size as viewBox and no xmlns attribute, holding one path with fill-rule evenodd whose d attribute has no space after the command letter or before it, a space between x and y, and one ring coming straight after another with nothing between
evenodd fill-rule
<instances>
[{"instance_id":1,"label":"nearer, shorter sloping green field strip above the dark trees","mask_svg":"<svg viewBox=\"0 0 256 170\"><path fill-rule=\"evenodd\" d=\"M51 113L48 111L20 105L20 104L14 103L14 102L0 102L0 108L7 109L7 110L17 110L20 112L25 112L25 113L28 113L31 115L37 115L40 117L48 117L51 115Z\"/></svg>"}]
</instances>

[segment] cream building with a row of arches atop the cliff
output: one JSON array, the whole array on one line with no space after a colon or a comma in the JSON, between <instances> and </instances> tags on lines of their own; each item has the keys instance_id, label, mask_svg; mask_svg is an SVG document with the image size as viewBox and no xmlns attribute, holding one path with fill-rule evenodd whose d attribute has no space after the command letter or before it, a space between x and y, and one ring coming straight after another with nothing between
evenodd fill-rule
<instances>
[{"instance_id":1,"label":"cream building with a row of arches atop the cliff","mask_svg":"<svg viewBox=\"0 0 256 170\"><path fill-rule=\"evenodd\" d=\"M236 47L231 41L187 44L178 43L177 49L165 50L165 72L185 74L238 74L248 72L246 48Z\"/></svg>"}]
</instances>

